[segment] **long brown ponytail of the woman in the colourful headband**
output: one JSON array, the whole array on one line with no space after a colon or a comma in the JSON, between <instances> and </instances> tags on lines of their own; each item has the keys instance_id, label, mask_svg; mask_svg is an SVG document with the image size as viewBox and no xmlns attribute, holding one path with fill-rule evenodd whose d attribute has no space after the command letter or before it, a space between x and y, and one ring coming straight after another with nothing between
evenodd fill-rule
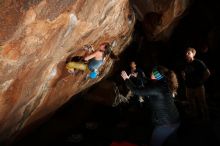
<instances>
[{"instance_id":1,"label":"long brown ponytail of the woman in the colourful headband","mask_svg":"<svg viewBox=\"0 0 220 146\"><path fill-rule=\"evenodd\" d=\"M158 66L157 70L166 78L171 93L173 95L176 95L177 89L179 87L176 73L173 70L169 70L164 66Z\"/></svg>"}]
</instances>

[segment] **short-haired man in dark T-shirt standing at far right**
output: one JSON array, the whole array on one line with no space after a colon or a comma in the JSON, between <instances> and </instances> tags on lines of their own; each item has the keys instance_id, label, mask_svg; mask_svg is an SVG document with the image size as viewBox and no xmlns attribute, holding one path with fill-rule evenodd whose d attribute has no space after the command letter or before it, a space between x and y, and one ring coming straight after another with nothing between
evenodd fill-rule
<instances>
[{"instance_id":1,"label":"short-haired man in dark T-shirt standing at far right","mask_svg":"<svg viewBox=\"0 0 220 146\"><path fill-rule=\"evenodd\" d=\"M186 65L182 72L186 86L186 99L189 102L189 114L192 117L201 117L204 120L209 119L208 106L206 103L205 81L210 76L208 67L202 60L196 59L196 50L187 48L185 52Z\"/></svg>"}]
</instances>

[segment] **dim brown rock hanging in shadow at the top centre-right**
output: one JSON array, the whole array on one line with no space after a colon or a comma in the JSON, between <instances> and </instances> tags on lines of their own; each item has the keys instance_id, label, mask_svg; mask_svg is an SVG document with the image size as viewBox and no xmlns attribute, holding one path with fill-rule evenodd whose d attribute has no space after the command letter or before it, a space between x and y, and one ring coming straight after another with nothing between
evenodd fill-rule
<instances>
[{"instance_id":1,"label":"dim brown rock hanging in shadow at the top centre-right","mask_svg":"<svg viewBox=\"0 0 220 146\"><path fill-rule=\"evenodd\" d=\"M166 40L176 22L190 5L190 0L133 0L134 8L143 21L149 40Z\"/></svg>"}]
</instances>

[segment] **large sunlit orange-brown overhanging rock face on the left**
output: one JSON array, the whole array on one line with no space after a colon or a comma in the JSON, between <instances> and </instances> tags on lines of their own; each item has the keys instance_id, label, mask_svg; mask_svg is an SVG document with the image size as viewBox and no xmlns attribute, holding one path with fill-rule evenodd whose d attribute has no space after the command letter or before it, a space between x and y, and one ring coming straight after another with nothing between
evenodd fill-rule
<instances>
[{"instance_id":1,"label":"large sunlit orange-brown overhanging rock face on the left","mask_svg":"<svg viewBox=\"0 0 220 146\"><path fill-rule=\"evenodd\" d=\"M135 22L128 0L0 0L0 11L1 141L100 81L110 58L95 80L69 75L66 59L104 41L114 41L119 54Z\"/></svg>"}]
</instances>

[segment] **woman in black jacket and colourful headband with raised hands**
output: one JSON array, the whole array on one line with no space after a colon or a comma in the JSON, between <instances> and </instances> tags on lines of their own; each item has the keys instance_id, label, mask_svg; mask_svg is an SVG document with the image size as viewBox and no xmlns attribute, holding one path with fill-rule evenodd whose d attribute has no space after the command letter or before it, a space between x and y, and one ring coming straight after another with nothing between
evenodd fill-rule
<instances>
[{"instance_id":1,"label":"woman in black jacket and colourful headband with raised hands","mask_svg":"<svg viewBox=\"0 0 220 146\"><path fill-rule=\"evenodd\" d=\"M133 94L144 96L149 102L154 126L150 146L163 145L180 125L179 112L173 99L178 88L176 74L163 66L156 66L151 73L152 83L143 89L134 86L125 71L121 72L121 77Z\"/></svg>"}]
</instances>

